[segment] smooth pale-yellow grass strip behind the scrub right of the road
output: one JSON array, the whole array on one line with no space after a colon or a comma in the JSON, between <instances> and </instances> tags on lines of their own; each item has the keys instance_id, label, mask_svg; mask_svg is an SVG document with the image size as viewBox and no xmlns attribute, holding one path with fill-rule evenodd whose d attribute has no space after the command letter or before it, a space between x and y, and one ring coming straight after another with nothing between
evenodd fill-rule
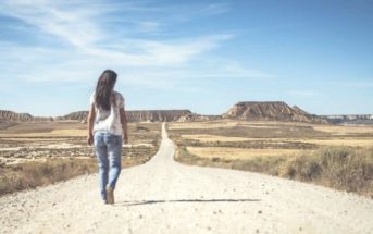
<instances>
[{"instance_id":1,"label":"smooth pale-yellow grass strip behind the scrub right of the road","mask_svg":"<svg viewBox=\"0 0 373 234\"><path fill-rule=\"evenodd\" d=\"M301 152L299 149L243 149L227 147L187 147L187 150L200 158L220 158L223 160L247 160L263 157L293 156Z\"/></svg>"}]
</instances>

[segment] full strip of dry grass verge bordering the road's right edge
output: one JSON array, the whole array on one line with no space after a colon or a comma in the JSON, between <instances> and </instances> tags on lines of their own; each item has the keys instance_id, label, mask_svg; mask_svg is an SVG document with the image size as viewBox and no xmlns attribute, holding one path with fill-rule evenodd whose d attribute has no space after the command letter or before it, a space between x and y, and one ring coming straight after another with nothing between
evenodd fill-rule
<instances>
[{"instance_id":1,"label":"full strip of dry grass verge bordering the road's right edge","mask_svg":"<svg viewBox=\"0 0 373 234\"><path fill-rule=\"evenodd\" d=\"M175 159L186 164L266 173L373 198L373 148L325 147L293 156L248 159L203 158L178 148Z\"/></svg>"}]
</instances>

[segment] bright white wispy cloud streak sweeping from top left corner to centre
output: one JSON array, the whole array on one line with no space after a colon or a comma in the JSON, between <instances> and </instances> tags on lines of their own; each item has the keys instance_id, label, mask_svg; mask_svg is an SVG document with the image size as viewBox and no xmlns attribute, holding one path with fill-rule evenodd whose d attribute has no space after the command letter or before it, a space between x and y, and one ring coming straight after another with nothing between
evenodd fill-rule
<instances>
[{"instance_id":1,"label":"bright white wispy cloud streak sweeping from top left corner to centre","mask_svg":"<svg viewBox=\"0 0 373 234\"><path fill-rule=\"evenodd\" d=\"M195 56L217 47L221 41L232 38L232 35L200 36L181 41L119 38L115 33L105 29L105 25L100 25L95 20L104 19L105 13L114 11L112 7L102 9L102 5L91 4L90 1L89 4L86 3L71 8L69 4L61 4L61 1L40 1L37 4L34 1L5 1L0 9L3 14L21 20L42 34L69 42L80 52L98 56L100 59L120 60L127 65L167 65L187 62ZM215 8L217 7L212 9ZM134 9L134 5L129 5L129 9ZM159 27L160 24L156 22L138 22L140 30L153 32ZM112 49L102 46L112 41L121 42ZM136 52L129 52L127 48Z\"/></svg>"}]
</instances>

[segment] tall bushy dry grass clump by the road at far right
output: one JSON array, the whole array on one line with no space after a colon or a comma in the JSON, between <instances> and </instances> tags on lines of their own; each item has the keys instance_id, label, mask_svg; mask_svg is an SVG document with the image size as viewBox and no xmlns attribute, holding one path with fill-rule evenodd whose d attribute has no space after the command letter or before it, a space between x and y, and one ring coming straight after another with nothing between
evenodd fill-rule
<instances>
[{"instance_id":1,"label":"tall bushy dry grass clump by the road at far right","mask_svg":"<svg viewBox=\"0 0 373 234\"><path fill-rule=\"evenodd\" d=\"M286 161L278 174L373 198L373 148L322 148Z\"/></svg>"}]
</instances>

